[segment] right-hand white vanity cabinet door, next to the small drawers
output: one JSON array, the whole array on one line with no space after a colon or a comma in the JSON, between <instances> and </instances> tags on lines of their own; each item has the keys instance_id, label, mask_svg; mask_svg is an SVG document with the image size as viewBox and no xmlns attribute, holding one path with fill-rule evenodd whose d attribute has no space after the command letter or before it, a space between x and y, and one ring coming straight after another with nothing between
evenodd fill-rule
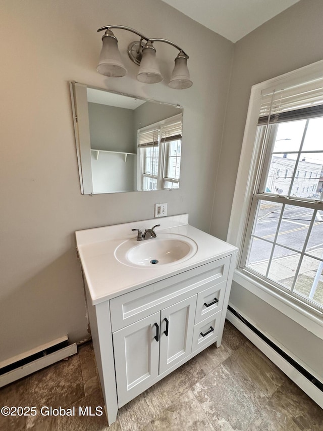
<instances>
[{"instance_id":1,"label":"right-hand white vanity cabinet door, next to the small drawers","mask_svg":"<svg viewBox=\"0 0 323 431\"><path fill-rule=\"evenodd\" d=\"M190 355L196 295L161 310L159 374Z\"/></svg>"}]
</instances>

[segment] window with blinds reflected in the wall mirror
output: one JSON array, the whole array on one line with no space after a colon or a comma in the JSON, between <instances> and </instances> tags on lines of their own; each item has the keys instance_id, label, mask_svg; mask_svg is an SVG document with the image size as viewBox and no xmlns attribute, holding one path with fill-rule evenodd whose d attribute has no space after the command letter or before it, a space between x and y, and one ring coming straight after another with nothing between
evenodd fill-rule
<instances>
[{"instance_id":1,"label":"window with blinds reflected in the wall mirror","mask_svg":"<svg viewBox=\"0 0 323 431\"><path fill-rule=\"evenodd\" d=\"M182 116L176 115L138 130L139 189L179 187Z\"/></svg>"}]
</instances>

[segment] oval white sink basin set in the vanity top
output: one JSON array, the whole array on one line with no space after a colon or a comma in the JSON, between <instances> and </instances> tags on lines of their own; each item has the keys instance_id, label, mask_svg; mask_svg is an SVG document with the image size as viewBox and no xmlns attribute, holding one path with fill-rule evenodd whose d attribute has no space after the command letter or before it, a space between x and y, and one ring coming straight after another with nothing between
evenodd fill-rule
<instances>
[{"instance_id":1,"label":"oval white sink basin set in the vanity top","mask_svg":"<svg viewBox=\"0 0 323 431\"><path fill-rule=\"evenodd\" d=\"M159 233L156 238L137 241L131 238L115 250L119 262L135 267L174 265L190 259L197 251L196 243L184 235Z\"/></svg>"}]
</instances>

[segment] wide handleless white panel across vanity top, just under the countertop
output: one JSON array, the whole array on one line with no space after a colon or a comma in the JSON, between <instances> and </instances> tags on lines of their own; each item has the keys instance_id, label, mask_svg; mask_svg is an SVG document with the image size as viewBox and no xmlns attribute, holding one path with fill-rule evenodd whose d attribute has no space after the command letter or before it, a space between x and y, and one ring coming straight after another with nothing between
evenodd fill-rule
<instances>
[{"instance_id":1,"label":"wide handleless white panel across vanity top, just under the countertop","mask_svg":"<svg viewBox=\"0 0 323 431\"><path fill-rule=\"evenodd\" d=\"M111 299L112 331L222 283L228 277L229 265L230 256Z\"/></svg>"}]
</instances>

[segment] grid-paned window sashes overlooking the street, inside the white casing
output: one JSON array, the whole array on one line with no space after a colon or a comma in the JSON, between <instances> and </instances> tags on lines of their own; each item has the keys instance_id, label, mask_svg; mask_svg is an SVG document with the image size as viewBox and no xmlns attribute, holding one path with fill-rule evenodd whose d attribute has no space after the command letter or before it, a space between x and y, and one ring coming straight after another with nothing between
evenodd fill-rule
<instances>
[{"instance_id":1,"label":"grid-paned window sashes overlooking the street, inside the white casing","mask_svg":"<svg viewBox=\"0 0 323 431\"><path fill-rule=\"evenodd\" d=\"M316 193L323 167L323 104L299 108L295 97L293 109L287 98L283 109L284 95L278 95L275 114L273 107L267 115L260 111L256 147L262 157L240 268L323 311L323 192Z\"/></svg>"}]
</instances>

